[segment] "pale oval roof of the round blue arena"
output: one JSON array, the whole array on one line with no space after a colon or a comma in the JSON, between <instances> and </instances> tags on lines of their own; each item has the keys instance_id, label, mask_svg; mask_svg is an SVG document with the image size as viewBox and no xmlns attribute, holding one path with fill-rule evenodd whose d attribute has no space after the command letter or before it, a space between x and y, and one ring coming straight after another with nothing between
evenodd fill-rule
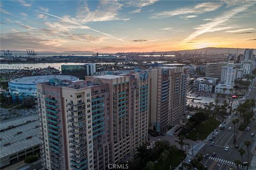
<instances>
[{"instance_id":1,"label":"pale oval roof of the round blue arena","mask_svg":"<svg viewBox=\"0 0 256 170\"><path fill-rule=\"evenodd\" d=\"M72 75L38 75L38 76L30 76L30 77L23 77L13 79L10 82L14 84L37 84L37 83L44 83L49 82L50 79L59 79L59 80L78 80L77 77Z\"/></svg>"}]
</instances>

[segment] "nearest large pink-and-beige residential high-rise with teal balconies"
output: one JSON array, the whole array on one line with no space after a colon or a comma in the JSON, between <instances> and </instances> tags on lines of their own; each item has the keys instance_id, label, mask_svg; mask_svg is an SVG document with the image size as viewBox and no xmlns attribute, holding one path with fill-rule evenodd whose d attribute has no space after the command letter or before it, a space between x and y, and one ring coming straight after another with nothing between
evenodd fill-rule
<instances>
[{"instance_id":1,"label":"nearest large pink-and-beige residential high-rise with teal balconies","mask_svg":"<svg viewBox=\"0 0 256 170\"><path fill-rule=\"evenodd\" d=\"M37 84L47 169L107 169L147 141L150 72Z\"/></svg>"}]
</instances>

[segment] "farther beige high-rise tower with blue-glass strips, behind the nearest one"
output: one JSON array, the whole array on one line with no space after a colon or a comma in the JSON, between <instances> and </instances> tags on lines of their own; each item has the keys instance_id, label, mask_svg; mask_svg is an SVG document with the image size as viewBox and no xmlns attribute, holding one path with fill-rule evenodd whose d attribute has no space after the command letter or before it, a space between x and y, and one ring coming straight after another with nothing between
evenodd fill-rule
<instances>
[{"instance_id":1,"label":"farther beige high-rise tower with blue-glass strips, behind the nearest one","mask_svg":"<svg viewBox=\"0 0 256 170\"><path fill-rule=\"evenodd\" d=\"M150 129L165 131L185 115L187 74L183 67L151 70Z\"/></svg>"}]
</instances>

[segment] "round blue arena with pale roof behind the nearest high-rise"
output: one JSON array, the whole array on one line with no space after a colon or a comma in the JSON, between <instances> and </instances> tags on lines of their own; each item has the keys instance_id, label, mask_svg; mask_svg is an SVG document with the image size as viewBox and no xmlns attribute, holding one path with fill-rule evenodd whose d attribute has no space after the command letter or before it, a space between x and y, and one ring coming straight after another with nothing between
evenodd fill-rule
<instances>
[{"instance_id":1,"label":"round blue arena with pale roof behind the nearest high-rise","mask_svg":"<svg viewBox=\"0 0 256 170\"><path fill-rule=\"evenodd\" d=\"M17 78L9 81L9 90L11 94L19 94L22 96L34 96L36 94L36 84L48 82L50 79L59 80L78 80L77 77L72 75L38 75Z\"/></svg>"}]
</instances>

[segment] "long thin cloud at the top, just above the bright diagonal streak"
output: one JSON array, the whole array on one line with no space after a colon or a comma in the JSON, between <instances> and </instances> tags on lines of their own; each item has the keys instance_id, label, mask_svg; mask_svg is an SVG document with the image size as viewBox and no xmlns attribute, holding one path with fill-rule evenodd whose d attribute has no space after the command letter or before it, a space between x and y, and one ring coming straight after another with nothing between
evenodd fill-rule
<instances>
[{"instance_id":1,"label":"long thin cloud at the top, just above the bright diagonal streak","mask_svg":"<svg viewBox=\"0 0 256 170\"><path fill-rule=\"evenodd\" d=\"M179 8L177 10L155 13L153 16L151 16L151 18L164 18L164 17L186 15L186 14L203 14L206 12L215 11L220 6L221 4L218 4L218 3L206 2L206 3L197 4L195 6Z\"/></svg>"}]
</instances>

